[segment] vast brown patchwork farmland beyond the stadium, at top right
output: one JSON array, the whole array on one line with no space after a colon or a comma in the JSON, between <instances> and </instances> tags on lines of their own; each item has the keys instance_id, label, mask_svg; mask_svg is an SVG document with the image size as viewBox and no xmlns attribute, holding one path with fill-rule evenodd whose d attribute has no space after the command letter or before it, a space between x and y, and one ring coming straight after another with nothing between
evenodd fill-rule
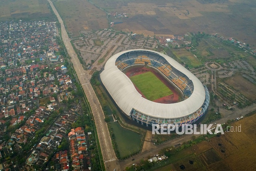
<instances>
[{"instance_id":1,"label":"vast brown patchwork farmland beyond the stadium, at top right","mask_svg":"<svg viewBox=\"0 0 256 171\"><path fill-rule=\"evenodd\" d=\"M255 45L254 28L256 12L253 1L145 1L145 0L92 0L107 12L126 13L123 23L114 26L117 30L159 34L181 34L203 31L218 33L225 37ZM239 13L237 12L239 11Z\"/></svg>"}]
</instances>

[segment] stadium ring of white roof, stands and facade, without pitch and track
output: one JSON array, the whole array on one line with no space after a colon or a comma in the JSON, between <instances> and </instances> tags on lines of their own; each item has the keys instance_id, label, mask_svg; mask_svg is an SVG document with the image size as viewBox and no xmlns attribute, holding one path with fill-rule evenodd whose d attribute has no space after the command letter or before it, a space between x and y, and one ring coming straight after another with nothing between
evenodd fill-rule
<instances>
[{"instance_id":1,"label":"stadium ring of white roof, stands and facade, without pitch and track","mask_svg":"<svg viewBox=\"0 0 256 171\"><path fill-rule=\"evenodd\" d=\"M122 71L130 66L153 67L183 94L183 101L157 103L143 98ZM126 50L113 55L100 74L101 81L118 107L142 125L191 124L204 115L209 92L196 76L165 54L152 50Z\"/></svg>"}]
</instances>

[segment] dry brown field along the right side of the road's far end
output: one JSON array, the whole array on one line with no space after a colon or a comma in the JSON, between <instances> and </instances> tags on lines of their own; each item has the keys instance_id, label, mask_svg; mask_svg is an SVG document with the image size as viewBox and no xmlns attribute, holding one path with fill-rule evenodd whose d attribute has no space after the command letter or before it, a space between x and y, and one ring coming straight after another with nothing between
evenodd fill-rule
<instances>
[{"instance_id":1,"label":"dry brown field along the right side of the road's far end","mask_svg":"<svg viewBox=\"0 0 256 171\"><path fill-rule=\"evenodd\" d=\"M88 1L56 0L53 3L72 37L80 36L79 31L109 27L106 13Z\"/></svg>"}]
</instances>

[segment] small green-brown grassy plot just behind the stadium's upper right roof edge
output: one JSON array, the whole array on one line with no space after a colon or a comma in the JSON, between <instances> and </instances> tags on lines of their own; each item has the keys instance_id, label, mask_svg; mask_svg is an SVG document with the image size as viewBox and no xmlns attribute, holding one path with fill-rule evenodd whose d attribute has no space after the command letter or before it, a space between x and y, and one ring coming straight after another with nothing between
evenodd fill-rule
<instances>
[{"instance_id":1,"label":"small green-brown grassy plot just behind the stadium's upper right roof edge","mask_svg":"<svg viewBox=\"0 0 256 171\"><path fill-rule=\"evenodd\" d=\"M199 61L191 52L187 51L185 48L182 49L173 49L173 54L184 62L190 69L202 65L202 62Z\"/></svg>"}]
</instances>

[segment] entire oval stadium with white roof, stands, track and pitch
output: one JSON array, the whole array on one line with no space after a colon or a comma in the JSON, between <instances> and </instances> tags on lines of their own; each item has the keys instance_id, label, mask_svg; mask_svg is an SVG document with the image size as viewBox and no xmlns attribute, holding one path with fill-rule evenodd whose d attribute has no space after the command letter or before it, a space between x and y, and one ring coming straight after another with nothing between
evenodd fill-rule
<instances>
[{"instance_id":1,"label":"entire oval stadium with white roof, stands, track and pitch","mask_svg":"<svg viewBox=\"0 0 256 171\"><path fill-rule=\"evenodd\" d=\"M135 49L115 54L100 78L122 112L142 125L191 124L208 109L206 86L159 52Z\"/></svg>"}]
</instances>

